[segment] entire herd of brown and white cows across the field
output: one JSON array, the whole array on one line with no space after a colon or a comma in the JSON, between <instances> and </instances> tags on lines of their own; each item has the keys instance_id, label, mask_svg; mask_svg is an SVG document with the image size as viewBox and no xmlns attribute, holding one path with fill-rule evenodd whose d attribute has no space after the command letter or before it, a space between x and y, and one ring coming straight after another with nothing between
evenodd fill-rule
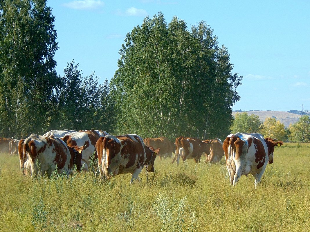
<instances>
[{"instance_id":1,"label":"entire herd of brown and white cows across the field","mask_svg":"<svg viewBox=\"0 0 310 232\"><path fill-rule=\"evenodd\" d=\"M282 144L258 133L230 134L224 142L180 136L172 143L166 137L143 140L138 135L115 136L101 130L52 130L21 140L0 138L0 153L18 154L22 173L31 176L51 176L54 170L69 175L75 165L79 171L88 171L95 154L101 178L131 173L130 183L144 166L154 172L156 157L172 158L174 153L172 163L179 164L180 157L197 163L205 154L205 162L212 163L225 155L230 184L236 185L241 175L252 174L256 187L267 164L273 162L274 147Z\"/></svg>"}]
</instances>

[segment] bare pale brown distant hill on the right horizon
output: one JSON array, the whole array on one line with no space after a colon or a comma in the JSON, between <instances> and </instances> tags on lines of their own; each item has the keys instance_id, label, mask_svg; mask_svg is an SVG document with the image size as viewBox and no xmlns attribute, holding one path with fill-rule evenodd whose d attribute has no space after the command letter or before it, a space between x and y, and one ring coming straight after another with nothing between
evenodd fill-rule
<instances>
[{"instance_id":1,"label":"bare pale brown distant hill on the right horizon","mask_svg":"<svg viewBox=\"0 0 310 232\"><path fill-rule=\"evenodd\" d=\"M285 127L288 127L290 123L294 124L298 122L299 118L302 116L300 114L292 114L286 111L243 111L247 114L255 114L259 116L260 121L265 121L266 118L276 118L276 120L280 120L281 123L284 124ZM237 113L243 112L232 112L232 115L235 116Z\"/></svg>"}]
</instances>

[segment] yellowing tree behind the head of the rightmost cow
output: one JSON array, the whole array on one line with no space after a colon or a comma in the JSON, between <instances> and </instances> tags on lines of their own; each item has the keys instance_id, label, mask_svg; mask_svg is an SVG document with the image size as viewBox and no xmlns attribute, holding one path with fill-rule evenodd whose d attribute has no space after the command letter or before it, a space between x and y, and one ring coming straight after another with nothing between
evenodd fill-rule
<instances>
[{"instance_id":1,"label":"yellowing tree behind the head of the rightmost cow","mask_svg":"<svg viewBox=\"0 0 310 232\"><path fill-rule=\"evenodd\" d=\"M276 138L282 141L288 140L284 124L275 118L266 118L260 133L264 137Z\"/></svg>"}]
</instances>

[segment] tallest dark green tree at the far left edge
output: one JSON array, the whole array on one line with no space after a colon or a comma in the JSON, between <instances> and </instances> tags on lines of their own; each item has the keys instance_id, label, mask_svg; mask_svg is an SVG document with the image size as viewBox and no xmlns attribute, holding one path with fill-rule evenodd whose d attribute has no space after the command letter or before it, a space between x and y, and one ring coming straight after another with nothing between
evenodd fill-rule
<instances>
[{"instance_id":1,"label":"tallest dark green tree at the far left edge","mask_svg":"<svg viewBox=\"0 0 310 232\"><path fill-rule=\"evenodd\" d=\"M42 133L53 104L58 43L55 18L45 2L0 1L2 135Z\"/></svg>"}]
</instances>

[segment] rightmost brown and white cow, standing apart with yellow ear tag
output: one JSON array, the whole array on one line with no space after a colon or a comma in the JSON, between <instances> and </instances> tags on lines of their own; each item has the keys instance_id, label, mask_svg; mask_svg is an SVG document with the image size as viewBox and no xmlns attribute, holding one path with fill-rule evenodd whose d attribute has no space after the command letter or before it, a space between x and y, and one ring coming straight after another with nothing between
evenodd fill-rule
<instances>
[{"instance_id":1,"label":"rightmost brown and white cow, standing apart with yellow ear tag","mask_svg":"<svg viewBox=\"0 0 310 232\"><path fill-rule=\"evenodd\" d=\"M226 166L230 184L236 185L241 175L252 174L255 178L255 188L266 169L267 164L273 163L275 146L281 146L282 141L263 138L259 133L230 134L224 140Z\"/></svg>"}]
</instances>

